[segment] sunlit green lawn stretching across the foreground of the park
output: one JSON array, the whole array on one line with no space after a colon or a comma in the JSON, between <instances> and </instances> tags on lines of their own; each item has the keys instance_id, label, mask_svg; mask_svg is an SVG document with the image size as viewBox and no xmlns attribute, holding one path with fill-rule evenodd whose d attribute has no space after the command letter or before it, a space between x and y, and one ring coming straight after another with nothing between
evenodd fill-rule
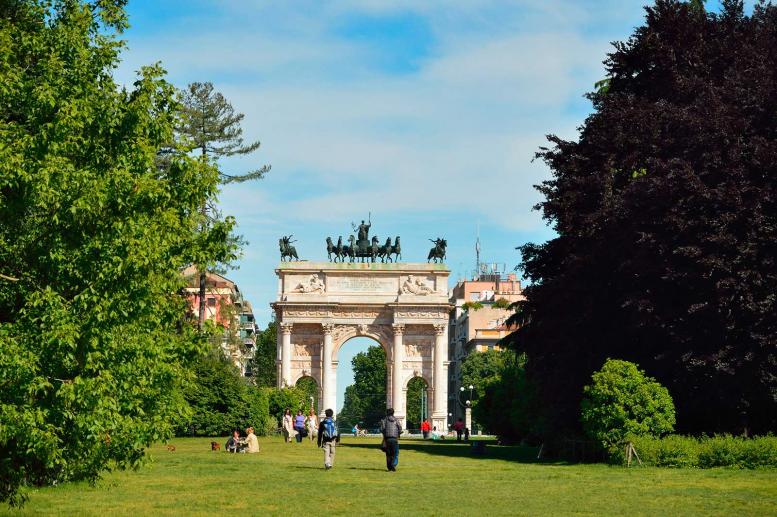
<instances>
[{"instance_id":1,"label":"sunlit green lawn stretching across the foreground of the park","mask_svg":"<svg viewBox=\"0 0 777 517\"><path fill-rule=\"evenodd\" d=\"M223 442L224 439L218 439ZM401 443L386 472L373 438L344 438L335 468L310 442L261 438L255 455L211 452L210 440L152 449L154 463L34 490L9 515L777 515L777 470L673 470L533 461L536 450Z\"/></svg>"}]
</instances>

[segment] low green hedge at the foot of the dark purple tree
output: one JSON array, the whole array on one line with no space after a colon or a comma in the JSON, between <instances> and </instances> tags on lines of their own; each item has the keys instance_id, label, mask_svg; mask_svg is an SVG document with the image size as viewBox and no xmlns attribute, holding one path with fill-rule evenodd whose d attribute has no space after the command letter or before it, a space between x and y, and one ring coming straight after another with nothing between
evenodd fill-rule
<instances>
[{"instance_id":1,"label":"low green hedge at the foot of the dark purple tree","mask_svg":"<svg viewBox=\"0 0 777 517\"><path fill-rule=\"evenodd\" d=\"M670 435L664 438L628 438L645 465L656 467L777 467L777 437L745 438L731 435L694 438ZM613 448L610 459L625 464L623 447Z\"/></svg>"}]
</instances>

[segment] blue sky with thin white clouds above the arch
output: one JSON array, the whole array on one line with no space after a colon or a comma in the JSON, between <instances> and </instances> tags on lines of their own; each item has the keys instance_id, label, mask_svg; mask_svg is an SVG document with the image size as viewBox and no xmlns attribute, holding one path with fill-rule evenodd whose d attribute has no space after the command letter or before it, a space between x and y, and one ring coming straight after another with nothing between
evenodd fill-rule
<instances>
[{"instance_id":1,"label":"blue sky with thin white clouds above the arch","mask_svg":"<svg viewBox=\"0 0 777 517\"><path fill-rule=\"evenodd\" d=\"M130 0L116 78L161 62L175 86L210 81L245 114L262 146L222 169L272 170L227 186L220 205L248 242L227 276L264 325L281 235L324 260L327 236L369 216L381 242L402 237L407 262L447 239L452 283L474 269L478 235L482 260L507 271L516 246L552 238L532 210L550 171L532 158L546 134L576 137L583 94L644 3ZM340 355L338 405L366 346Z\"/></svg>"}]
</instances>

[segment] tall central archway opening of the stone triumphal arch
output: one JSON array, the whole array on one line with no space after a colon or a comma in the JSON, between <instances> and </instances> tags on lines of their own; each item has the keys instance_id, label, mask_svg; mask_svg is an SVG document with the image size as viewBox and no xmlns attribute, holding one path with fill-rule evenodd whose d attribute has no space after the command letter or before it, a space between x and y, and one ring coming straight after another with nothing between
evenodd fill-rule
<instances>
[{"instance_id":1,"label":"tall central archway opening of the stone triumphal arch","mask_svg":"<svg viewBox=\"0 0 777 517\"><path fill-rule=\"evenodd\" d=\"M349 339L337 353L337 425L374 433L386 414L386 352L369 337Z\"/></svg>"}]
</instances>

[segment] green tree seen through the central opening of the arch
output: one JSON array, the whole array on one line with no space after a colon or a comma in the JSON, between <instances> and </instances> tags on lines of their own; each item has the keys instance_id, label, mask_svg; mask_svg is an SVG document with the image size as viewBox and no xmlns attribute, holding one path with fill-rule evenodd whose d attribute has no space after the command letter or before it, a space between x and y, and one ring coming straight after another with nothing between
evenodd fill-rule
<instances>
[{"instance_id":1,"label":"green tree seen through the central opening of the arch","mask_svg":"<svg viewBox=\"0 0 777 517\"><path fill-rule=\"evenodd\" d=\"M338 423L346 427L377 427L386 415L386 352L383 347L371 346L356 354L351 365L353 384L345 389Z\"/></svg>"}]
</instances>

